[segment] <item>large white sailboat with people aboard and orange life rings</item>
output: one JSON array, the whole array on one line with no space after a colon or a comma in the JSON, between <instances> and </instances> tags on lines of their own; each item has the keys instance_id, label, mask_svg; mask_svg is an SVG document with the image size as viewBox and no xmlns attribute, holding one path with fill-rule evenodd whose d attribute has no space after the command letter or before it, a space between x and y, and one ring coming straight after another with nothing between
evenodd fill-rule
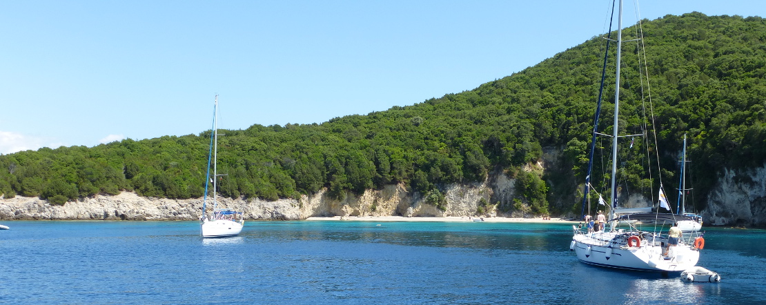
<instances>
[{"instance_id":1,"label":"large white sailboat with people aboard and orange life rings","mask_svg":"<svg viewBox=\"0 0 766 305\"><path fill-rule=\"evenodd\" d=\"M682 272L690 267L694 267L699 261L699 249L692 246L689 239L685 242L679 238L679 243L675 247L669 247L667 255L665 245L668 242L668 236L660 232L640 231L635 226L628 228L617 228L619 221L614 216L617 208L617 139L619 123L619 105L620 105L620 48L622 44L622 0L619 1L619 17L617 29L617 57L616 57L616 80L614 93L614 125L612 138L612 166L611 166L611 204L610 217L607 219L608 226L602 231L582 231L581 228L574 227L574 236L572 237L569 249L575 251L578 260L585 264L592 264L601 267L614 267L634 271L660 271L660 272ZM607 47L608 51L608 47ZM606 64L604 58L604 64ZM600 93L601 94L601 93ZM601 97L599 97L601 100ZM601 107L599 101L598 109ZM598 111L598 110L597 110ZM585 197L588 198L588 188L590 187L591 165L593 159L594 143L597 136L598 116L596 116L593 130L593 142L591 143L591 164L588 166L588 175L586 177ZM585 200L584 200L585 202ZM630 215L630 214L628 214ZM627 221L630 223L630 221ZM694 244L704 244L695 240ZM700 246L699 248L702 248Z\"/></svg>"}]
</instances>

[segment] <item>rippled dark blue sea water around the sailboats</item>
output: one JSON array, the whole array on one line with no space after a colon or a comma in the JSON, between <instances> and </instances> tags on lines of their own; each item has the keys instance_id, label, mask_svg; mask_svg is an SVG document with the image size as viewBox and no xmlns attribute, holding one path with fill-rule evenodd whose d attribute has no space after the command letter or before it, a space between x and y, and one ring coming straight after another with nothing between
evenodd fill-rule
<instances>
[{"instance_id":1,"label":"rippled dark blue sea water around the sailboats","mask_svg":"<svg viewBox=\"0 0 766 305\"><path fill-rule=\"evenodd\" d=\"M764 303L766 231L712 229L719 284L590 267L571 226L263 221L6 221L0 303Z\"/></svg>"}]
</instances>

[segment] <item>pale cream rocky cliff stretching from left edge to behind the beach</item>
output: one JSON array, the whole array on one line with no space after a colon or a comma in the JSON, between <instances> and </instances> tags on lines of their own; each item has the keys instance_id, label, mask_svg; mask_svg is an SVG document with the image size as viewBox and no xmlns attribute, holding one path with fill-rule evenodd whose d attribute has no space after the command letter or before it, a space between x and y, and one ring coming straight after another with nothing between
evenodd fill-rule
<instances>
[{"instance_id":1,"label":"pale cream rocky cliff stretching from left edge to behind the beach","mask_svg":"<svg viewBox=\"0 0 766 305\"><path fill-rule=\"evenodd\" d=\"M503 175L504 176L504 175ZM420 193L408 192L404 185L386 185L381 190L368 190L356 196L347 194L342 201L329 198L326 190L300 199L268 202L259 199L219 198L222 208L243 212L245 219L296 220L311 216L389 216L444 217L476 215L481 198L488 200L494 192L508 192L512 180L502 179L489 187L480 184L447 185L444 210L424 202ZM201 216L202 198L167 199L140 197L133 192L119 195L96 195L64 205L51 205L40 198L17 196L0 200L2 220L197 220Z\"/></svg>"}]
</instances>

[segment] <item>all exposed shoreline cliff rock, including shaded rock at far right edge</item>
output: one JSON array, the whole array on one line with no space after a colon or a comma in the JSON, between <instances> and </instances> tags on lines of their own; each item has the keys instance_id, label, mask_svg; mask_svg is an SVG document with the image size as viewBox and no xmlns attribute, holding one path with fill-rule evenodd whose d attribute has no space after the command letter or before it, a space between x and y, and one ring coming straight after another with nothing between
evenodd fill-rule
<instances>
[{"instance_id":1,"label":"all exposed shoreline cliff rock, including shaded rock at far right edge","mask_svg":"<svg viewBox=\"0 0 766 305\"><path fill-rule=\"evenodd\" d=\"M556 164L556 162L549 162ZM539 164L538 166L545 166ZM702 211L709 225L766 226L766 166L747 172L727 170L710 190L707 208ZM444 209L427 204L419 192L408 192L404 185L385 185L381 190L367 190L362 195L349 193L335 200L322 190L299 199L268 202L259 199L221 198L219 205L234 208L250 220L297 220L311 216L390 216L445 217L479 216L480 202L512 202L516 196L515 179L500 172L489 175L482 183L452 184L443 189ZM647 198L620 197L626 205L648 206ZM565 206L567 202L551 202ZM529 217L522 212L502 214L495 208L484 208L481 215ZM0 220L197 220L202 199L167 199L139 197L133 192L119 195L96 195L64 205L50 205L39 198L0 199ZM575 215L565 215L575 217Z\"/></svg>"}]
</instances>

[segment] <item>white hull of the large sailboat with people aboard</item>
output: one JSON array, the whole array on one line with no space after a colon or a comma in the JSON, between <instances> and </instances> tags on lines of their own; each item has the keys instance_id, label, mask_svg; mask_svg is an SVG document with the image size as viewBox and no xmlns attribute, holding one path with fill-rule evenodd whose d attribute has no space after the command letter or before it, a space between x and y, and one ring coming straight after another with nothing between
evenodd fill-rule
<instances>
[{"instance_id":1,"label":"white hull of the large sailboat with people aboard","mask_svg":"<svg viewBox=\"0 0 766 305\"><path fill-rule=\"evenodd\" d=\"M585 264L634 271L681 272L699 261L699 251L686 244L671 247L666 258L660 241L641 239L639 247L629 247L626 240L624 233L578 233L570 248Z\"/></svg>"}]
</instances>

